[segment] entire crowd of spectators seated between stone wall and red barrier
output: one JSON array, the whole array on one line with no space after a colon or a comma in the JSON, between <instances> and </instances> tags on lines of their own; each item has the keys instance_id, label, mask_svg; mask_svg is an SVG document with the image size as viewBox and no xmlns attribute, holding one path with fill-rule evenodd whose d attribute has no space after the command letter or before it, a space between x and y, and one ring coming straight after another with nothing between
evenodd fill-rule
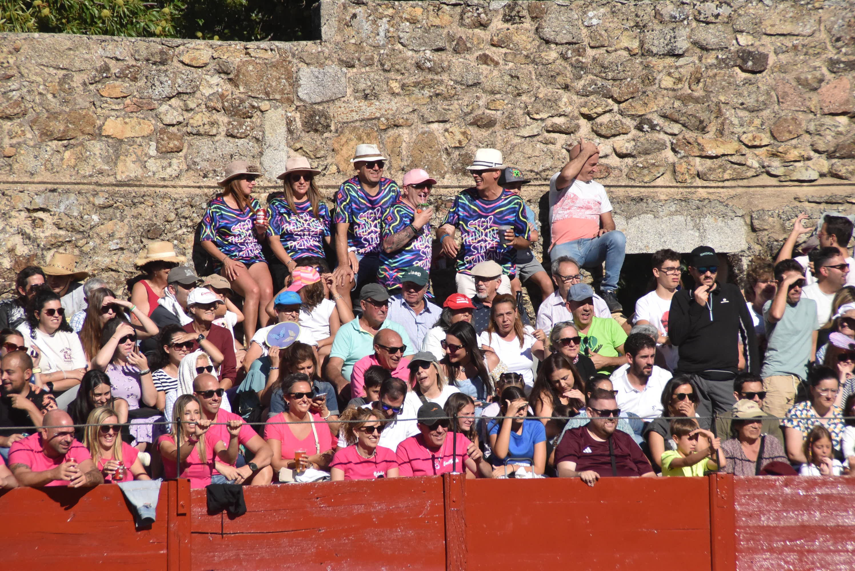
<instances>
[{"instance_id":1,"label":"entire crowd of spectators seated between stone wall and red barrier","mask_svg":"<svg viewBox=\"0 0 855 571\"><path fill-rule=\"evenodd\" d=\"M851 216L799 215L744 276L704 244L632 274L590 142L543 233L499 150L439 227L427 172L399 187L374 144L352 163L332 209L303 157L266 207L258 169L227 165L206 276L169 242L127 300L69 254L23 268L0 302L0 485L850 473ZM649 284L634 310L628 282Z\"/></svg>"}]
</instances>

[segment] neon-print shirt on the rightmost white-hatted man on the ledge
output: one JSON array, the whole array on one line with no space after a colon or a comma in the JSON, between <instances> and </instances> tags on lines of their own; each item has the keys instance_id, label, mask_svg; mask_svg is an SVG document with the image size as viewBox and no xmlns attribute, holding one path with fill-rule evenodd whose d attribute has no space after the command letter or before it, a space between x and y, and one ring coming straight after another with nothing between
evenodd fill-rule
<instances>
[{"instance_id":1,"label":"neon-print shirt on the rightmost white-hatted man on the ledge","mask_svg":"<svg viewBox=\"0 0 855 571\"><path fill-rule=\"evenodd\" d=\"M468 188L454 199L445 215L445 224L457 227L463 238L463 247L457 252L458 272L470 275L476 264L493 260L513 279L516 275L514 247L498 244L498 227L512 226L517 236L531 238L521 197L503 189L498 198L486 200L478 196L475 188Z\"/></svg>"}]
</instances>

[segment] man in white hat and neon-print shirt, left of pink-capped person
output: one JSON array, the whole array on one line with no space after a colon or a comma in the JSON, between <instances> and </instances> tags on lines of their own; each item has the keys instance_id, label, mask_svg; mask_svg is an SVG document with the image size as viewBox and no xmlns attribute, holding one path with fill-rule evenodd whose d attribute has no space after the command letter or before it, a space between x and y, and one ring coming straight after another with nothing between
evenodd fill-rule
<instances>
[{"instance_id":1,"label":"man in white hat and neon-print shirt, left of pink-capped person","mask_svg":"<svg viewBox=\"0 0 855 571\"><path fill-rule=\"evenodd\" d=\"M401 192L398 183L382 176L386 157L380 155L376 144L357 144L351 162L357 174L345 180L335 195L333 224L339 267L333 274L339 286L352 289L354 282L361 288L377 280L380 219Z\"/></svg>"}]
</instances>

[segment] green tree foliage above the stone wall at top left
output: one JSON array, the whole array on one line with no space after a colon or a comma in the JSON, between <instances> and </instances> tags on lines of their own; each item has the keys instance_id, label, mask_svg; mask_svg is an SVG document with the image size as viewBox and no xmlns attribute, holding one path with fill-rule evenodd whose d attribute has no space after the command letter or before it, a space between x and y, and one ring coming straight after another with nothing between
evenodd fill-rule
<instances>
[{"instance_id":1,"label":"green tree foliage above the stone wall at top left","mask_svg":"<svg viewBox=\"0 0 855 571\"><path fill-rule=\"evenodd\" d=\"M315 0L0 0L0 32L204 38L315 39Z\"/></svg>"}]
</instances>

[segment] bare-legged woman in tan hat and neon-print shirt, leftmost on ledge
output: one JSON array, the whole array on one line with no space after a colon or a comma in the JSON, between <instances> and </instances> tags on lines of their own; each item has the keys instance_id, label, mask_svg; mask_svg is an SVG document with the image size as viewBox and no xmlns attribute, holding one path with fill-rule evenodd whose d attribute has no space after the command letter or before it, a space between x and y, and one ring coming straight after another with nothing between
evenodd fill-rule
<instances>
[{"instance_id":1,"label":"bare-legged woman in tan hat and neon-print shirt, leftmost on ledge","mask_svg":"<svg viewBox=\"0 0 855 571\"><path fill-rule=\"evenodd\" d=\"M215 260L215 269L244 297L244 333L247 340L259 322L267 326L269 316L258 309L273 297L273 281L262 254L268 223L259 219L262 209L252 197L258 168L246 161L233 161L217 184L223 191L208 203L202 217L199 243ZM266 215L266 213L265 213Z\"/></svg>"}]
</instances>

